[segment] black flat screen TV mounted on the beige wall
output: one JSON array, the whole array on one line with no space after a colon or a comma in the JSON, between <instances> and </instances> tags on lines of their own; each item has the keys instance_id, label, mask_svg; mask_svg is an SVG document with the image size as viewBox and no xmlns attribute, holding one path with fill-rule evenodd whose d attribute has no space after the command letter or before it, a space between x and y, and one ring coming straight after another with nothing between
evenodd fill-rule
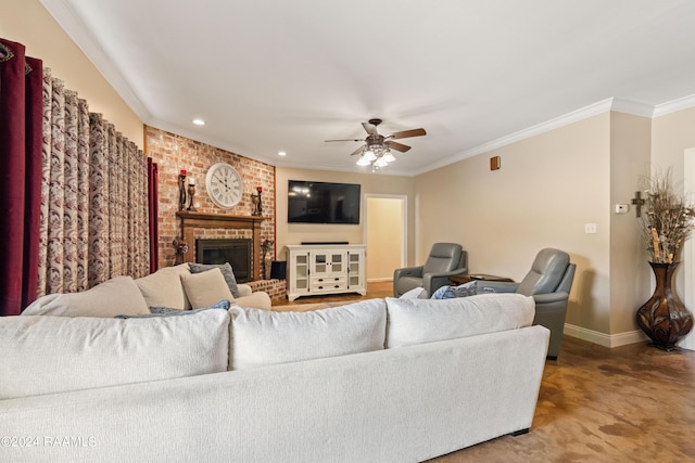
<instances>
[{"instance_id":1,"label":"black flat screen TV mounted on the beige wall","mask_svg":"<svg viewBox=\"0 0 695 463\"><path fill-rule=\"evenodd\" d=\"M359 185L290 180L289 223L359 223Z\"/></svg>"}]
</instances>

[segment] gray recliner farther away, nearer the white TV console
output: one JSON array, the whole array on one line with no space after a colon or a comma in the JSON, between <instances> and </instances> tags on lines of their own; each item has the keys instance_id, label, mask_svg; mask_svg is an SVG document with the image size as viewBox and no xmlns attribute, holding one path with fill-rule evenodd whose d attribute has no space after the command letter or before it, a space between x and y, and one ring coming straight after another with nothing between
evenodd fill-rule
<instances>
[{"instance_id":1,"label":"gray recliner farther away, nearer the white TV console","mask_svg":"<svg viewBox=\"0 0 695 463\"><path fill-rule=\"evenodd\" d=\"M428 295L451 284L453 275L463 275L468 269L467 254L456 243L434 243L424 266L406 267L393 272L393 296L400 297L416 287L424 287Z\"/></svg>"}]
</instances>

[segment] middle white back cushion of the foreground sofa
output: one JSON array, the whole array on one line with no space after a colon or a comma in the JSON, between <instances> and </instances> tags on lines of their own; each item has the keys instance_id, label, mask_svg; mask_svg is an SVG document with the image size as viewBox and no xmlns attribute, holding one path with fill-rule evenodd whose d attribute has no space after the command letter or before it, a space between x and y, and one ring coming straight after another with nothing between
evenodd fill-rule
<instances>
[{"instance_id":1,"label":"middle white back cushion of the foreground sofa","mask_svg":"<svg viewBox=\"0 0 695 463\"><path fill-rule=\"evenodd\" d=\"M230 370L383 349L383 299L307 312L232 307Z\"/></svg>"}]
</instances>

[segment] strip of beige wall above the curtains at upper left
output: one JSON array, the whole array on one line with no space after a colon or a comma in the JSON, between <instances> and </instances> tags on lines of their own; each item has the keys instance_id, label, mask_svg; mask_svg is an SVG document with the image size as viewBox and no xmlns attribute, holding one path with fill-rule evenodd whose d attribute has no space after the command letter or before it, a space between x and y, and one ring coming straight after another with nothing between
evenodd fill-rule
<instances>
[{"instance_id":1,"label":"strip of beige wall above the curtains at upper left","mask_svg":"<svg viewBox=\"0 0 695 463\"><path fill-rule=\"evenodd\" d=\"M116 130L142 149L140 118L121 99L38 0L3 0L0 37L26 47L26 54L43 61L52 76L87 100Z\"/></svg>"}]
</instances>

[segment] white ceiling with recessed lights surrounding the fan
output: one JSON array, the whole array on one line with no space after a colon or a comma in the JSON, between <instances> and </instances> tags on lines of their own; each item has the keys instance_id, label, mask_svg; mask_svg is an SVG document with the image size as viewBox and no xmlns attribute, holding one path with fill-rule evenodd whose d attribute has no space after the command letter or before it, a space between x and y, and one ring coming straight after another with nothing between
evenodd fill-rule
<instances>
[{"instance_id":1,"label":"white ceiling with recessed lights surrounding the fan","mask_svg":"<svg viewBox=\"0 0 695 463\"><path fill-rule=\"evenodd\" d=\"M381 170L415 175L695 95L692 0L41 1L146 124L278 166L369 171L324 140L372 117L427 129Z\"/></svg>"}]
</instances>

